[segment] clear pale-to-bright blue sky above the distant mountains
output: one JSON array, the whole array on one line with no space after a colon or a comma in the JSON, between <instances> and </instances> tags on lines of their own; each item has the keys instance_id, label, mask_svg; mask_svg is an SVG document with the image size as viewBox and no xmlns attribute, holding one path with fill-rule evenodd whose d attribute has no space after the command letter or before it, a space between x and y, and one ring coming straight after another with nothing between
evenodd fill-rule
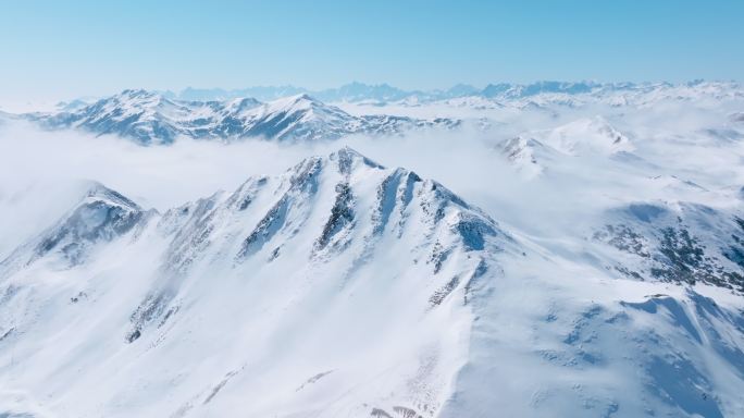
<instances>
[{"instance_id":1,"label":"clear pale-to-bright blue sky above the distant mountains","mask_svg":"<svg viewBox=\"0 0 744 418\"><path fill-rule=\"evenodd\" d=\"M742 79L744 0L0 2L0 96Z\"/></svg>"}]
</instances>

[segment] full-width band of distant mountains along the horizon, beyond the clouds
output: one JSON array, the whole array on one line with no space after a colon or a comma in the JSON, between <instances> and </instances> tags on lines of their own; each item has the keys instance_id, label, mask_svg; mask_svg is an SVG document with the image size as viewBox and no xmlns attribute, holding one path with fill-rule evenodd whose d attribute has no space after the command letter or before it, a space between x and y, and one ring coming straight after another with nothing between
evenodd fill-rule
<instances>
[{"instance_id":1,"label":"full-width band of distant mountains along the horizon, beyond the clouds","mask_svg":"<svg viewBox=\"0 0 744 418\"><path fill-rule=\"evenodd\" d=\"M313 142L354 134L400 135L411 130L450 130L462 124L463 120L451 116L456 114L452 112L445 111L445 116L441 111L423 112L432 116L420 119L411 114L421 113L406 111L432 104L441 104L439 109L444 110L536 110L557 114L563 109L590 104L645 108L661 101L743 98L744 89L733 82L540 82L491 84L483 89L458 85L432 91L352 83L310 93L292 86L239 90L187 88L179 94L128 89L97 101L61 102L53 112L20 116L50 130L78 128L96 135L120 135L141 145L171 144L179 136L223 142L243 138ZM736 118L740 116L731 116L734 122ZM464 119L478 120L480 127L491 126L495 121L493 114L472 112Z\"/></svg>"}]
</instances>

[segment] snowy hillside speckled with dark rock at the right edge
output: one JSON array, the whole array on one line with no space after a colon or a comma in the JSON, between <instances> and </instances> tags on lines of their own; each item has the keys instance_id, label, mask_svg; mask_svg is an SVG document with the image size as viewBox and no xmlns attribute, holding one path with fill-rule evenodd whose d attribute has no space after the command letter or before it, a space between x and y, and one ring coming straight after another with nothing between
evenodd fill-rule
<instances>
[{"instance_id":1,"label":"snowy hillside speckled with dark rock at the right edge","mask_svg":"<svg viewBox=\"0 0 744 418\"><path fill-rule=\"evenodd\" d=\"M594 239L634 256L616 266L624 274L744 292L744 222L739 217L700 205L656 202L631 204L607 217L617 222L595 232Z\"/></svg>"}]
</instances>

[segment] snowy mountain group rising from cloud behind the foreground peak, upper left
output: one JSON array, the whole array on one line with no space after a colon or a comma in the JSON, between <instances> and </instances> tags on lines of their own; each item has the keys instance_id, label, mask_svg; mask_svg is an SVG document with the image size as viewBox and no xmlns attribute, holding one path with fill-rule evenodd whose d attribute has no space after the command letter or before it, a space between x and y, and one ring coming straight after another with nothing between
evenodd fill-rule
<instances>
[{"instance_id":1,"label":"snowy mountain group rising from cloud behind the foreground peak, upper left","mask_svg":"<svg viewBox=\"0 0 744 418\"><path fill-rule=\"evenodd\" d=\"M170 144L178 136L221 140L247 137L320 140L459 124L449 119L354 116L306 94L262 103L251 98L179 101L146 90L124 90L71 111L35 113L27 118L48 128L74 127L98 135L115 134L140 144Z\"/></svg>"}]
</instances>

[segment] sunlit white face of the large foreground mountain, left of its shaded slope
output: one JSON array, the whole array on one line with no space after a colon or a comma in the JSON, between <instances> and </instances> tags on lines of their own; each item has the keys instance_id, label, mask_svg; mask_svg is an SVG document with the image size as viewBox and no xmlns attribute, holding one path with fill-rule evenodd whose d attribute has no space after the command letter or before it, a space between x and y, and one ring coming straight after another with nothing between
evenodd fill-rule
<instances>
[{"instance_id":1,"label":"sunlit white face of the large foreground mountain, left of its shaded slope","mask_svg":"<svg viewBox=\"0 0 744 418\"><path fill-rule=\"evenodd\" d=\"M228 414L246 393L249 416L434 414L467 300L516 248L441 184L350 149L163 214L96 185L2 262L1 373L76 416Z\"/></svg>"}]
</instances>

